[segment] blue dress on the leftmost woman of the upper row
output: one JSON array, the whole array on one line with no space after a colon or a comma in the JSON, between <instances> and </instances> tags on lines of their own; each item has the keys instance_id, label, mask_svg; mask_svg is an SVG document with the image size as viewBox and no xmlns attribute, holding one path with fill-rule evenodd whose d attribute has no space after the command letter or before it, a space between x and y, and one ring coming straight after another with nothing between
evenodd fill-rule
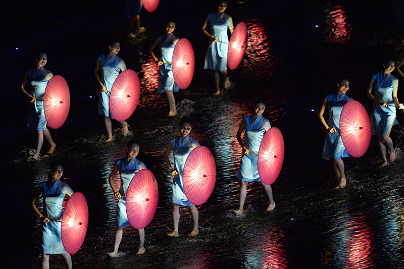
<instances>
[{"instance_id":1,"label":"blue dress on the leftmost woman of the upper row","mask_svg":"<svg viewBox=\"0 0 404 269\"><path fill-rule=\"evenodd\" d=\"M28 128L44 131L46 128L46 119L43 112L43 94L49 82L46 77L52 75L52 72L47 71L42 66L38 72L36 72L36 68L28 70L28 75L27 85L31 88L31 95L36 99L36 102L31 103L29 106Z\"/></svg>"}]
</instances>

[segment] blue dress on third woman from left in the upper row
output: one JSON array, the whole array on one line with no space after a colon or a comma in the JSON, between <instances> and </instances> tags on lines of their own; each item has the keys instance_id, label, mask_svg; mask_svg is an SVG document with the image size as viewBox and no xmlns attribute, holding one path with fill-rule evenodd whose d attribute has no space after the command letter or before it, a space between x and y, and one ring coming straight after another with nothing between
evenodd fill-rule
<instances>
[{"instance_id":1,"label":"blue dress on third woman from left in the upper row","mask_svg":"<svg viewBox=\"0 0 404 269\"><path fill-rule=\"evenodd\" d=\"M166 38L167 37L167 38ZM173 33L166 35L160 35L157 37L159 40L160 46L160 61L163 63L171 63L173 61L173 52L174 52L174 39L177 38ZM159 87L157 88L158 93L162 93L164 91L172 91L177 92L180 88L175 84L173 68L172 65L163 64L160 66L159 73Z\"/></svg>"}]
</instances>

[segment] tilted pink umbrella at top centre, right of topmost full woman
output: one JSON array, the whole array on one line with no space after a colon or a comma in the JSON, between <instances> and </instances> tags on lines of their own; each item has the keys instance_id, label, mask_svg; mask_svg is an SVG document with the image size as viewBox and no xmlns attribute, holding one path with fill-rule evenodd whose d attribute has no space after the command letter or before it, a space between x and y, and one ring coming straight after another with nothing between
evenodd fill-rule
<instances>
[{"instance_id":1,"label":"tilted pink umbrella at top centre, right of topmost full woman","mask_svg":"<svg viewBox=\"0 0 404 269\"><path fill-rule=\"evenodd\" d=\"M231 70L238 67L247 48L247 25L244 22L237 24L230 37L227 51L227 65Z\"/></svg>"}]
</instances>

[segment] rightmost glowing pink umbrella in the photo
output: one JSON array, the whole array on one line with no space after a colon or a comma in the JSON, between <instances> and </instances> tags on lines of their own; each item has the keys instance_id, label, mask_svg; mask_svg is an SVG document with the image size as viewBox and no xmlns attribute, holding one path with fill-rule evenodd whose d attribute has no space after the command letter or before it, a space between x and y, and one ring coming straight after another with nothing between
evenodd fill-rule
<instances>
[{"instance_id":1,"label":"rightmost glowing pink umbrella in the photo","mask_svg":"<svg viewBox=\"0 0 404 269\"><path fill-rule=\"evenodd\" d=\"M349 154L361 157L368 150L372 128L365 107L351 100L344 104L339 118L339 133Z\"/></svg>"}]
</instances>

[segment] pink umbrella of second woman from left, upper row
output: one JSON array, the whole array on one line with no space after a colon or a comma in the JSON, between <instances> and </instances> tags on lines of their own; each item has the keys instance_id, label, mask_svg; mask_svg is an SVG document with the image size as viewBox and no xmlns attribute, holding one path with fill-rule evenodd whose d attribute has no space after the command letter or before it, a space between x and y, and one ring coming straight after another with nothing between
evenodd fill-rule
<instances>
[{"instance_id":1,"label":"pink umbrella of second woman from left, upper row","mask_svg":"<svg viewBox=\"0 0 404 269\"><path fill-rule=\"evenodd\" d=\"M126 121L136 109L140 97L140 80L136 72L127 69L115 79L110 94L111 115L117 121Z\"/></svg>"}]
</instances>

